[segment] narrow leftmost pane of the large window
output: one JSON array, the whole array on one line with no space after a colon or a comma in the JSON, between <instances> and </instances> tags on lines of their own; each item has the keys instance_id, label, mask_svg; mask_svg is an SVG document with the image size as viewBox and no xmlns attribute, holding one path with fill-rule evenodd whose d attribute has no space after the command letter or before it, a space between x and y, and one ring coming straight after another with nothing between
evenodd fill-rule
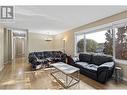
<instances>
[{"instance_id":1,"label":"narrow leftmost pane of the large window","mask_svg":"<svg viewBox=\"0 0 127 95\"><path fill-rule=\"evenodd\" d=\"M77 53L84 52L84 34L76 36L76 50Z\"/></svg>"}]
</instances>

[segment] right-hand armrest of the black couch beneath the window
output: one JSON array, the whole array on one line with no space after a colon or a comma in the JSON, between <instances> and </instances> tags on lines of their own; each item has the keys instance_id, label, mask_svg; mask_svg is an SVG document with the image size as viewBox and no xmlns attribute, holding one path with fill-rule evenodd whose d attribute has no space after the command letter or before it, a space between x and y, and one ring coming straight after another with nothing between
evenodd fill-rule
<instances>
[{"instance_id":1,"label":"right-hand armrest of the black couch beneath the window","mask_svg":"<svg viewBox=\"0 0 127 95\"><path fill-rule=\"evenodd\" d=\"M114 67L114 62L106 62L102 65L100 65L97 69L97 76L98 81L105 83L108 80L108 77L110 76L109 71L111 71Z\"/></svg>"}]
</instances>

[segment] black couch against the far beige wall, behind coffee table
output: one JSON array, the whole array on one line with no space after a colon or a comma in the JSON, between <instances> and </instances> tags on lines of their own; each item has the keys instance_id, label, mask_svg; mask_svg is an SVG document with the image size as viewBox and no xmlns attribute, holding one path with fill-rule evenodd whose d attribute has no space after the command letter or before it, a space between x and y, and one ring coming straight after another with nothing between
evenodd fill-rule
<instances>
[{"instance_id":1,"label":"black couch against the far beige wall, behind coffee table","mask_svg":"<svg viewBox=\"0 0 127 95\"><path fill-rule=\"evenodd\" d=\"M32 69L40 69L43 64L50 62L66 63L67 55L61 51L43 51L29 53L29 63L32 64Z\"/></svg>"}]
</instances>

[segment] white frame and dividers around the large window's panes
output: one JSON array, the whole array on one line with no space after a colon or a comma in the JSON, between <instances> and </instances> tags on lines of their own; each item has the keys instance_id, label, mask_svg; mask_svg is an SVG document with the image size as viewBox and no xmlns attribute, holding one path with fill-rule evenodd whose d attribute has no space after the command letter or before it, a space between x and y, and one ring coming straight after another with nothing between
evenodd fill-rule
<instances>
[{"instance_id":1,"label":"white frame and dividers around the large window's panes","mask_svg":"<svg viewBox=\"0 0 127 95\"><path fill-rule=\"evenodd\" d=\"M112 22L112 23L108 23L108 24L104 24L104 25L100 25L100 26L97 26L97 27L93 27L93 28L89 28L89 29L85 29L85 30L82 30L82 31L79 31L79 32L75 32L75 38L78 34L84 34L84 52L86 52L86 38L85 38L85 35L86 34L89 34L89 33L95 33L95 32L99 32L101 30L108 30L110 29L111 31L113 31L113 59L116 60L116 61L119 61L119 63L121 62L124 62L123 64L125 64L125 62L127 62L127 60L123 60L123 59L117 59L116 58L116 53L115 53L115 28L118 28L118 27L122 27L122 26L127 26L127 19L122 19L122 20L118 20L118 21L115 21L115 22ZM76 40L75 40L75 48L76 48ZM74 51L75 55L77 56L77 51L75 49ZM127 64L126 64L127 65Z\"/></svg>"}]
</instances>

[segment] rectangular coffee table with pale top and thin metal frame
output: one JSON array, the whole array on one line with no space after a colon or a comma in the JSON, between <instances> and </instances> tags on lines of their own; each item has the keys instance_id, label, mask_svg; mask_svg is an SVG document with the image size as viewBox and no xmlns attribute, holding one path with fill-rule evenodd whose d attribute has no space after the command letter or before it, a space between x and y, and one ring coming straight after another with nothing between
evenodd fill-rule
<instances>
[{"instance_id":1,"label":"rectangular coffee table with pale top and thin metal frame","mask_svg":"<svg viewBox=\"0 0 127 95\"><path fill-rule=\"evenodd\" d=\"M63 62L58 62L51 64L54 69L51 69L51 75L56 79L56 81L64 88L69 88L79 83L79 68L68 65ZM62 73L65 75L65 80L62 82L60 78L56 77L57 73Z\"/></svg>"}]
</instances>

